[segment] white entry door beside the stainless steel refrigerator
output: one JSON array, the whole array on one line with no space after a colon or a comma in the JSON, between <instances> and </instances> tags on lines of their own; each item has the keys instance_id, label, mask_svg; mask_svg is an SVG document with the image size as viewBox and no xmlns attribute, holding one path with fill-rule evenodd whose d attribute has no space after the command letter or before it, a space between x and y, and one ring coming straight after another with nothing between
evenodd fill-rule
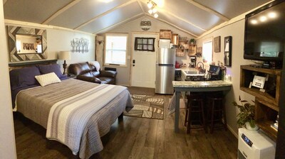
<instances>
[{"instance_id":1,"label":"white entry door beside the stainless steel refrigerator","mask_svg":"<svg viewBox=\"0 0 285 159\"><path fill-rule=\"evenodd\" d=\"M155 38L155 52L135 50L135 37ZM155 88L155 62L158 51L158 33L139 34L133 33L133 54L131 60L131 86Z\"/></svg>"}]
</instances>

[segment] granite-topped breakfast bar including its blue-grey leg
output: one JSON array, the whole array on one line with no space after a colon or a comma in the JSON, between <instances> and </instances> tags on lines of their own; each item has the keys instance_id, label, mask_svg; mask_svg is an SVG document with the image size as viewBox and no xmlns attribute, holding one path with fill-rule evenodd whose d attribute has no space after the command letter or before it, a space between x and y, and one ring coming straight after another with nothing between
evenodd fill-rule
<instances>
[{"instance_id":1,"label":"granite-topped breakfast bar including its blue-grey leg","mask_svg":"<svg viewBox=\"0 0 285 159\"><path fill-rule=\"evenodd\" d=\"M172 81L175 90L175 132L179 132L180 94L181 92L216 92L229 91L232 82L227 81Z\"/></svg>"}]
</instances>

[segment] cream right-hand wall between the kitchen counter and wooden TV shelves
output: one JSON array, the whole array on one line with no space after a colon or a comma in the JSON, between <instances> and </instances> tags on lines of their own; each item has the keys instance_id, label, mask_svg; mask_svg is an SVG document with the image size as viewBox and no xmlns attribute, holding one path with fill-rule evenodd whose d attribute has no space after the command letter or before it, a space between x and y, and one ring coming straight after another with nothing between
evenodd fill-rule
<instances>
[{"instance_id":1,"label":"cream right-hand wall between the kitchen counter and wooden TV shelves","mask_svg":"<svg viewBox=\"0 0 285 159\"><path fill-rule=\"evenodd\" d=\"M221 53L213 53L213 61L217 65L218 60L224 62L224 37L229 35L232 36L232 67L227 67L227 75L232 76L232 90L227 92L226 95L227 124L229 129L237 136L236 116L238 114L238 110L232 105L232 102L239 102L239 96L249 102L254 100L252 95L239 90L240 65L248 65L252 63L249 60L244 60L243 57L244 19L204 35L197 39L197 45L202 46L202 41L206 38L221 36Z\"/></svg>"}]
</instances>

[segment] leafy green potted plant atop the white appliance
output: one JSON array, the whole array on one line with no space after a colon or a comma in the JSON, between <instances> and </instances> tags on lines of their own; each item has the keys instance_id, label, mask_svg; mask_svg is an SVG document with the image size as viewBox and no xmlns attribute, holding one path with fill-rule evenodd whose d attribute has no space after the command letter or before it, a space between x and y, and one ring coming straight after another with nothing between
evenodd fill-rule
<instances>
[{"instance_id":1,"label":"leafy green potted plant atop the white appliance","mask_svg":"<svg viewBox=\"0 0 285 159\"><path fill-rule=\"evenodd\" d=\"M249 104L246 100L242 100L239 97L239 102L242 104L237 104L237 102L233 102L234 106L237 106L239 109L239 114L237 114L237 124L239 127L244 126L247 122L249 122L249 125L254 128L255 121L254 121L254 110L255 106L253 104Z\"/></svg>"}]
</instances>

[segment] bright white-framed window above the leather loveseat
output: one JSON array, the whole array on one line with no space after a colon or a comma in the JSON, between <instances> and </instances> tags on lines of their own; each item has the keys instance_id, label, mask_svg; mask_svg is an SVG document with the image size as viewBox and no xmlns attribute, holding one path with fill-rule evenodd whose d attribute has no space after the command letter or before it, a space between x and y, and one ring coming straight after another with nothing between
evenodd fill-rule
<instances>
[{"instance_id":1,"label":"bright white-framed window above the leather loveseat","mask_svg":"<svg viewBox=\"0 0 285 159\"><path fill-rule=\"evenodd\" d=\"M105 36L105 65L126 66L127 34L112 34Z\"/></svg>"}]
</instances>

